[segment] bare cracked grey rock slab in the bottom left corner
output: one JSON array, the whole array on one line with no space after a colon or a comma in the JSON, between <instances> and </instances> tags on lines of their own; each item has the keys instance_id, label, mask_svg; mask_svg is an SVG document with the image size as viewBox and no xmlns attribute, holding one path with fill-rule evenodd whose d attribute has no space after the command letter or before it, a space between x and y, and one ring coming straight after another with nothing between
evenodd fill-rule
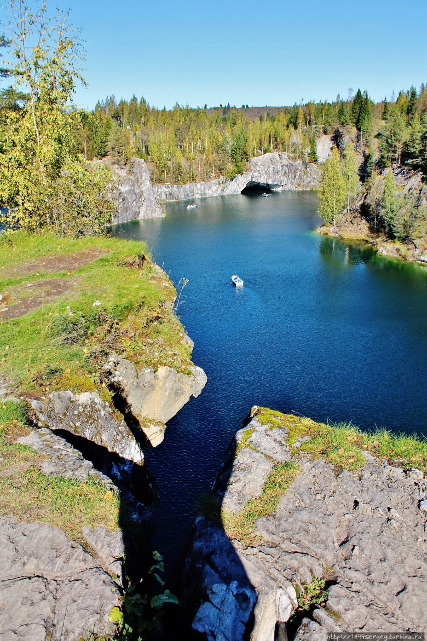
<instances>
[{"instance_id":1,"label":"bare cracked grey rock slab in the bottom left corner","mask_svg":"<svg viewBox=\"0 0 427 641\"><path fill-rule=\"evenodd\" d=\"M120 603L114 572L123 554L120 533L84 529L93 555L47 523L0 517L0 639L77 641L113 633L108 616Z\"/></svg>"}]
</instances>

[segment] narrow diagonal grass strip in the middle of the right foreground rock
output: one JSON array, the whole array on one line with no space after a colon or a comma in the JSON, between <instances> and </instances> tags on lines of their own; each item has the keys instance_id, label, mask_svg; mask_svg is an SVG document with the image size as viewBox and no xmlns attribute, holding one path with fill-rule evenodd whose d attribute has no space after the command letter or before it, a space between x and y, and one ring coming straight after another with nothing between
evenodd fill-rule
<instances>
[{"instance_id":1,"label":"narrow diagonal grass strip in the middle of the right foreground rock","mask_svg":"<svg viewBox=\"0 0 427 641\"><path fill-rule=\"evenodd\" d=\"M256 520L276 512L280 497L285 494L297 472L298 466L292 461L276 465L267 476L260 496L249 499L242 512L231 515L223 512L222 522L228 537L237 538L245 547L251 545L255 539Z\"/></svg>"}]
</instances>

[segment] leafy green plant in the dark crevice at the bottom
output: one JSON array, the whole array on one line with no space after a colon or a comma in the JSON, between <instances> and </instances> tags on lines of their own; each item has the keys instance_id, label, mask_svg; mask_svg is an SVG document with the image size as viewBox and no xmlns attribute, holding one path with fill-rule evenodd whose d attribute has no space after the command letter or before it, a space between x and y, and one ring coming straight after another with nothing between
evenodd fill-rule
<instances>
[{"instance_id":1,"label":"leafy green plant in the dark crevice at the bottom","mask_svg":"<svg viewBox=\"0 0 427 641\"><path fill-rule=\"evenodd\" d=\"M165 569L163 558L156 551L153 552L153 560L153 565L140 583L126 589L121 608L116 606L110 612L110 621L119 627L119 639L146 641L151 631L161 629L165 603L178 603L170 590L151 596L155 582L164 585L159 572Z\"/></svg>"}]
</instances>

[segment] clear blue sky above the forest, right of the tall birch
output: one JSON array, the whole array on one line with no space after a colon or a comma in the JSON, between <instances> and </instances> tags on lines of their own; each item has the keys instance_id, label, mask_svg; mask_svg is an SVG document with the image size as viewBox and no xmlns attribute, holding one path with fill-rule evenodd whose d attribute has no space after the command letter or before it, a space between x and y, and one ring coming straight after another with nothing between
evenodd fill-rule
<instances>
[{"instance_id":1,"label":"clear blue sky above the forest, right of the tall birch","mask_svg":"<svg viewBox=\"0 0 427 641\"><path fill-rule=\"evenodd\" d=\"M427 81L427 0L57 0L87 49L76 103L373 99ZM48 0L53 8L53 0Z\"/></svg>"}]
</instances>

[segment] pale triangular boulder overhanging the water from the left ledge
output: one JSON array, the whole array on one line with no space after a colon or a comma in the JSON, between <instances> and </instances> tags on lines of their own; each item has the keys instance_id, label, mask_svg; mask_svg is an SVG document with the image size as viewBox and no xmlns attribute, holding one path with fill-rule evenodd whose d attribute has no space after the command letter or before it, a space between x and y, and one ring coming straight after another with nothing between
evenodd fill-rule
<instances>
[{"instance_id":1,"label":"pale triangular boulder overhanging the water from the left ledge","mask_svg":"<svg viewBox=\"0 0 427 641\"><path fill-rule=\"evenodd\" d=\"M185 340L185 339L184 339ZM118 354L112 354L105 365L110 385L126 402L128 411L147 439L155 447L164 438L165 423L198 396L206 385L207 376L200 367L190 367L190 373L177 372L162 365L137 369Z\"/></svg>"}]
</instances>

